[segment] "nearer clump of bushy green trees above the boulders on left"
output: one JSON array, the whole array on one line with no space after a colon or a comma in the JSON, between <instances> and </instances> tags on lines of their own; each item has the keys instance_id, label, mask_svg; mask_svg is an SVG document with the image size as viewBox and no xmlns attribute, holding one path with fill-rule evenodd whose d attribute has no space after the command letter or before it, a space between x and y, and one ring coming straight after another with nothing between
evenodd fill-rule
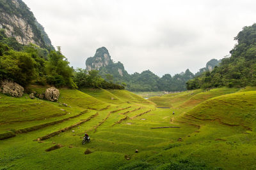
<instances>
[{"instance_id":1,"label":"nearer clump of bushy green trees above the boulders on left","mask_svg":"<svg viewBox=\"0 0 256 170\"><path fill-rule=\"evenodd\" d=\"M48 52L36 45L24 46L17 52L0 43L0 80L10 79L26 87L31 82L56 87L77 87L73 69L61 52Z\"/></svg>"}]
</instances>

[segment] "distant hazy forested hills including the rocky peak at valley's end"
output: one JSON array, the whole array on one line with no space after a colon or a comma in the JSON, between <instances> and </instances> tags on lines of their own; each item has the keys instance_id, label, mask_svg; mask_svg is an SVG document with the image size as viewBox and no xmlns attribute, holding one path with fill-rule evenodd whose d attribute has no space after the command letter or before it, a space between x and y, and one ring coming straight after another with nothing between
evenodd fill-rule
<instances>
[{"instance_id":1,"label":"distant hazy forested hills including the rocky peak at valley's end","mask_svg":"<svg viewBox=\"0 0 256 170\"><path fill-rule=\"evenodd\" d=\"M199 75L211 70L219 62L220 60L216 59L210 60L206 67L200 69L196 74ZM124 64L113 62L105 47L98 48L95 55L86 60L86 69L87 71L98 70L100 76L106 81L126 84L126 89L130 91L184 91L186 90L186 82L195 76L189 69L174 76L164 74L161 78L150 70L128 74Z\"/></svg>"}]
</instances>

